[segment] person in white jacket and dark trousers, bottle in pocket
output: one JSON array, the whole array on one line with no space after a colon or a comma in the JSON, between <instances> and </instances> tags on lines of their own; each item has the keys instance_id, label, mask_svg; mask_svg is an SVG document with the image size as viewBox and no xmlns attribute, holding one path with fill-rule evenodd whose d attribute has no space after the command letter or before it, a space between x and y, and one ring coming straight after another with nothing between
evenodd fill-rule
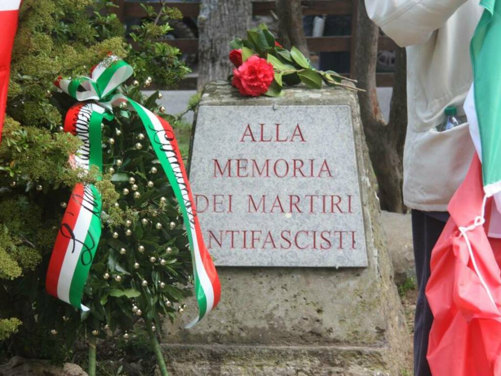
<instances>
[{"instance_id":1,"label":"person in white jacket and dark trousers, bottle in pocket","mask_svg":"<svg viewBox=\"0 0 501 376\"><path fill-rule=\"evenodd\" d=\"M405 205L412 209L419 287L414 374L430 375L426 352L433 316L424 291L431 250L474 150L466 122L443 132L436 126L444 121L447 106L464 115L462 106L472 82L469 42L482 8L479 0L365 0L365 6L369 18L407 51L403 193Z\"/></svg>"}]
</instances>

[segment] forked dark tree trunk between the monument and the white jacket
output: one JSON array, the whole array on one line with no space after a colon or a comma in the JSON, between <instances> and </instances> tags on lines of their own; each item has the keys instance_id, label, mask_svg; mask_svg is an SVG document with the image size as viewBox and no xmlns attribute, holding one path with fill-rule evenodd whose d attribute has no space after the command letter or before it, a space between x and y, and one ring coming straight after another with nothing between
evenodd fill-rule
<instances>
[{"instance_id":1,"label":"forked dark tree trunk between the monument and the white jacket","mask_svg":"<svg viewBox=\"0 0 501 376\"><path fill-rule=\"evenodd\" d=\"M355 19L355 18L354 18ZM405 49L396 51L396 70L390 118L386 123L376 93L376 61L379 28L368 18L364 0L359 0L355 78L366 92L359 93L360 112L369 154L379 186L381 209L402 213L403 146L407 130Z\"/></svg>"}]
</instances>

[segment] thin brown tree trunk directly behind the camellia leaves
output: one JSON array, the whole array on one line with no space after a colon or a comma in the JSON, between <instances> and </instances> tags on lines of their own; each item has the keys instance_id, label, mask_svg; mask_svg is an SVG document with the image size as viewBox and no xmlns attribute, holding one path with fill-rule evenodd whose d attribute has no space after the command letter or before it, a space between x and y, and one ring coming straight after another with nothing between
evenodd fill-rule
<instances>
[{"instance_id":1,"label":"thin brown tree trunk directly behind the camellia leaves","mask_svg":"<svg viewBox=\"0 0 501 376\"><path fill-rule=\"evenodd\" d=\"M287 49L296 46L305 56L310 56L303 28L301 0L277 0L279 41Z\"/></svg>"}]
</instances>

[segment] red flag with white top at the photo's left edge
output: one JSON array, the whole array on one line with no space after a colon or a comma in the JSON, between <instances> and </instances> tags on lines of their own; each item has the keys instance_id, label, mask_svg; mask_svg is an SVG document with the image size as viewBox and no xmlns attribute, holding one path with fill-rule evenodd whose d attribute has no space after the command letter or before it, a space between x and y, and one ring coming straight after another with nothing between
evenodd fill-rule
<instances>
[{"instance_id":1,"label":"red flag with white top at the photo's left edge","mask_svg":"<svg viewBox=\"0 0 501 376\"><path fill-rule=\"evenodd\" d=\"M0 0L0 142L4 127L7 91L11 66L12 46L18 29L21 0Z\"/></svg>"}]
</instances>

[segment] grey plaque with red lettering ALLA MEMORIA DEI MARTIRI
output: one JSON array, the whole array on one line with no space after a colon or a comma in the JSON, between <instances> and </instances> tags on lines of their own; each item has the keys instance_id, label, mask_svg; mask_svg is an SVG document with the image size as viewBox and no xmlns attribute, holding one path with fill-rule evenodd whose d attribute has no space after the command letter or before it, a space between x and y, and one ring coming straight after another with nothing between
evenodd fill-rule
<instances>
[{"instance_id":1,"label":"grey plaque with red lettering ALLA MEMORIA DEI MARTIRI","mask_svg":"<svg viewBox=\"0 0 501 376\"><path fill-rule=\"evenodd\" d=\"M349 105L201 105L190 181L220 266L365 267Z\"/></svg>"}]
</instances>

